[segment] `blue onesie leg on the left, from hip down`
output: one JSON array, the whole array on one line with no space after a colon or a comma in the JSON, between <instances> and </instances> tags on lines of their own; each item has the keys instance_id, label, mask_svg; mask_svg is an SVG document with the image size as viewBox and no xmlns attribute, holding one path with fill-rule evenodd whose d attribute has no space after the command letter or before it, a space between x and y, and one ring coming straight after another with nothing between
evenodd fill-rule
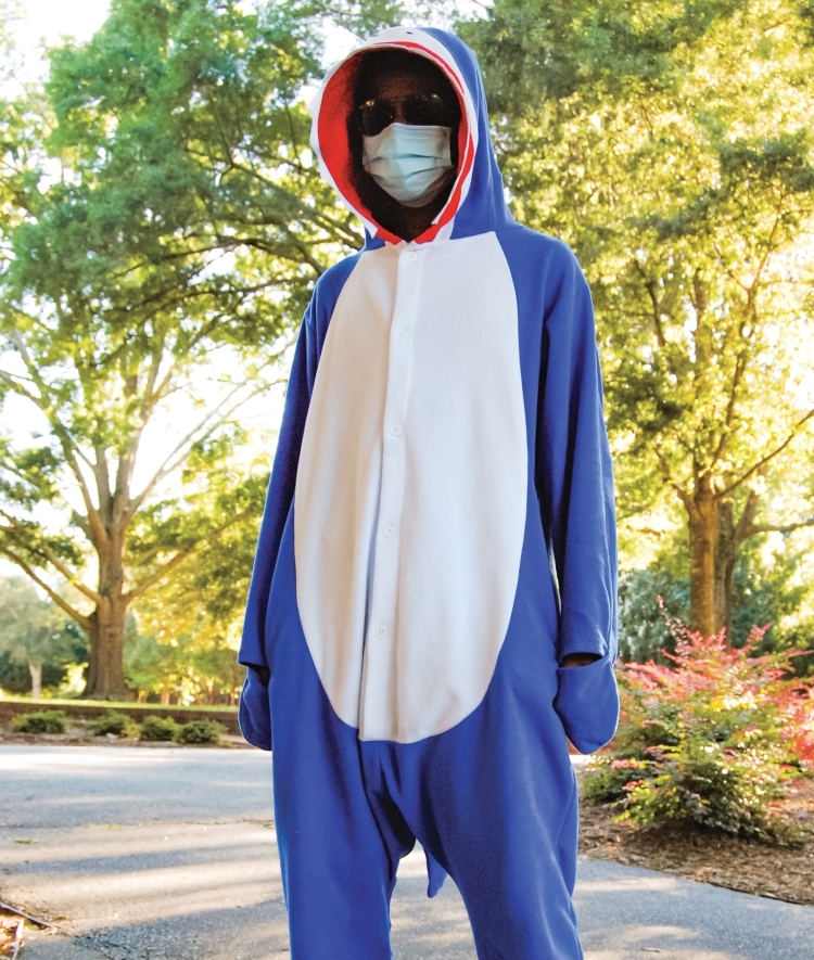
<instances>
[{"instance_id":1,"label":"blue onesie leg on the left, from hip down","mask_svg":"<svg viewBox=\"0 0 814 960\"><path fill-rule=\"evenodd\" d=\"M296 645L278 647L271 691L291 960L391 960L390 899L415 837L369 797L356 730L331 709L307 652L288 669Z\"/></svg>"}]
</instances>

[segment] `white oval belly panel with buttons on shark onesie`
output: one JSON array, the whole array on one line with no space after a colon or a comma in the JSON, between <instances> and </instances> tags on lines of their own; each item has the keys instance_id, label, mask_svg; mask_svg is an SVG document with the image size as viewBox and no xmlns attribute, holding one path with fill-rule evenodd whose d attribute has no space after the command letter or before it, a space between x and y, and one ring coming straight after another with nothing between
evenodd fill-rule
<instances>
[{"instance_id":1,"label":"white oval belly panel with buttons on shark onesie","mask_svg":"<svg viewBox=\"0 0 814 960\"><path fill-rule=\"evenodd\" d=\"M363 740L422 740L483 700L526 487L517 299L497 238L365 254L326 337L295 494L305 638Z\"/></svg>"}]
</instances>

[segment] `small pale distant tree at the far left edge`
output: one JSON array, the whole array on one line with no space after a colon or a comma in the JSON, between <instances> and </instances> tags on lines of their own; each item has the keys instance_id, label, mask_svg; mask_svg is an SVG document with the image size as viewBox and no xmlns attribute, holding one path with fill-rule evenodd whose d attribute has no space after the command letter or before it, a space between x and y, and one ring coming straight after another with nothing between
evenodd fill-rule
<instances>
[{"instance_id":1,"label":"small pale distant tree at the far left edge","mask_svg":"<svg viewBox=\"0 0 814 960\"><path fill-rule=\"evenodd\" d=\"M23 577L0 583L0 653L28 667L33 700L42 692L43 664L68 663L74 653L64 616Z\"/></svg>"}]
</instances>

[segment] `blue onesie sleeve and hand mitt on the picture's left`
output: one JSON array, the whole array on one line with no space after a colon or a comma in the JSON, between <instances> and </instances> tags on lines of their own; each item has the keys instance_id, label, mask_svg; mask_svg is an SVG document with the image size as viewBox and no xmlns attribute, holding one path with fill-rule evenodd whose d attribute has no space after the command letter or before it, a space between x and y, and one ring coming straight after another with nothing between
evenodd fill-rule
<instances>
[{"instance_id":1,"label":"blue onesie sleeve and hand mitt on the picture's left","mask_svg":"<svg viewBox=\"0 0 814 960\"><path fill-rule=\"evenodd\" d=\"M240 694L238 721L245 739L260 750L271 750L268 683L264 683L260 676L260 670L269 666L265 649L266 610L283 528L294 499L300 448L316 369L310 312L309 307L294 350L238 653L238 662L249 667Z\"/></svg>"}]
</instances>

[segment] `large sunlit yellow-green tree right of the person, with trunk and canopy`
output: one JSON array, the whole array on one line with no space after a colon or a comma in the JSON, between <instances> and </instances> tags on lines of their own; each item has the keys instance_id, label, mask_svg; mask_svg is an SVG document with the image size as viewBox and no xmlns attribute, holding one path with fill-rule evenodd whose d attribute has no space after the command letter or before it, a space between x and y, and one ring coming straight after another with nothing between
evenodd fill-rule
<instances>
[{"instance_id":1,"label":"large sunlit yellow-green tree right of the person, with trunk and canopy","mask_svg":"<svg viewBox=\"0 0 814 960\"><path fill-rule=\"evenodd\" d=\"M814 523L794 489L814 422L811 21L794 0L497 0L460 29L518 216L592 284L622 516L681 508L711 636L742 546Z\"/></svg>"}]
</instances>

